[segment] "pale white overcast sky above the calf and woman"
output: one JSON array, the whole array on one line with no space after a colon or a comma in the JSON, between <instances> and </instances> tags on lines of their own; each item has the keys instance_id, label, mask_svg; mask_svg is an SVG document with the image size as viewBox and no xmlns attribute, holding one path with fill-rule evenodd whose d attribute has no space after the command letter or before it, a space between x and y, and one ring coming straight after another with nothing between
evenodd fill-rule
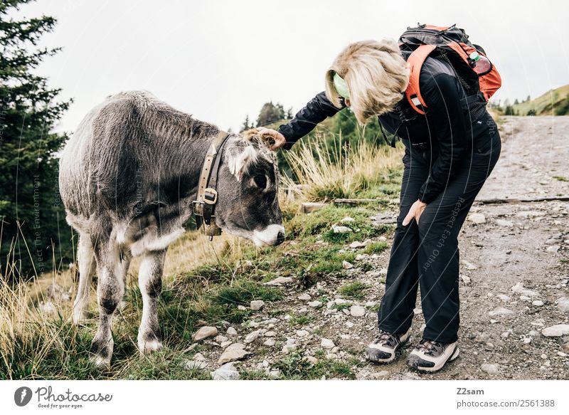
<instances>
[{"instance_id":1,"label":"pale white overcast sky above the calf and woman","mask_svg":"<svg viewBox=\"0 0 569 415\"><path fill-rule=\"evenodd\" d=\"M569 83L567 1L38 0L23 16L58 19L37 72L75 102L57 130L122 90L238 130L272 100L296 112L352 41L398 38L417 22L457 23L499 69L496 98L536 98ZM15 15L16 16L16 15Z\"/></svg>"}]
</instances>

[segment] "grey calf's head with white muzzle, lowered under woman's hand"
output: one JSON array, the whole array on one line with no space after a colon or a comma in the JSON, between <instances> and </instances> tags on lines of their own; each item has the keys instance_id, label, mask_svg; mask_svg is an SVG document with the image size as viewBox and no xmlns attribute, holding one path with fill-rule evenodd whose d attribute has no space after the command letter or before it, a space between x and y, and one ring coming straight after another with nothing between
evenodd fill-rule
<instances>
[{"instance_id":1,"label":"grey calf's head with white muzzle, lowered under woman's hand","mask_svg":"<svg viewBox=\"0 0 569 415\"><path fill-rule=\"evenodd\" d=\"M279 169L268 138L256 129L228 137L218 175L216 224L257 246L275 246L285 240Z\"/></svg>"}]
</instances>

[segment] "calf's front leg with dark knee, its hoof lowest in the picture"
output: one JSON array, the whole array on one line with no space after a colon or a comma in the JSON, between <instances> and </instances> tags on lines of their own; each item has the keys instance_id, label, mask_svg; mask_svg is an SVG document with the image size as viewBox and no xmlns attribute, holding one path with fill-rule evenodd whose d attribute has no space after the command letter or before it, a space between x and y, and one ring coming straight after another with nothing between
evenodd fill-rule
<instances>
[{"instance_id":1,"label":"calf's front leg with dark knee, its hoof lowest in the picture","mask_svg":"<svg viewBox=\"0 0 569 415\"><path fill-rule=\"evenodd\" d=\"M124 295L124 275L127 273L129 261L110 243L95 246L97 259L97 301L99 303L99 327L91 342L92 362L97 366L110 366L112 349L112 315Z\"/></svg>"}]
</instances>

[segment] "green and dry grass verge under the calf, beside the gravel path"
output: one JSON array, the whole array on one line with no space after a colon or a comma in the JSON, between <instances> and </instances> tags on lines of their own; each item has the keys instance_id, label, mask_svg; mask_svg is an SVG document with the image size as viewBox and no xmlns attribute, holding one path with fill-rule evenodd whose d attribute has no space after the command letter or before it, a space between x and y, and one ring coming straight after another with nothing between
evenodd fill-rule
<instances>
[{"instance_id":1,"label":"green and dry grass verge under the calf, beside the gravel path","mask_svg":"<svg viewBox=\"0 0 569 415\"><path fill-rule=\"evenodd\" d=\"M391 199L400 186L400 169L396 167L400 166L401 149L344 144L336 149L333 158L326 159L319 146L309 154L309 145L299 143L299 151L291 153L298 156L289 159L299 178L294 187L302 187L302 194L289 198L283 192L280 196L287 243L260 249L227 234L209 242L197 232L188 232L169 247L158 308L164 349L151 356L141 358L137 350L142 317L142 296L137 285L139 260L132 261L126 305L113 320L115 351L108 370L99 370L89 362L88 350L98 319L95 285L91 290L90 320L83 327L75 327L69 322L72 301L53 301L53 312L41 312L38 307L52 301L46 296L52 283L70 290L71 298L75 297L76 275L72 270L35 275L28 283L8 283L7 275L0 275L0 379L209 379L207 371L183 367L184 359L191 359L199 350L188 352L191 335L198 327L225 327L227 322L246 325L252 318L248 309L251 300L264 300L270 305L282 300L285 290L300 292L319 280L346 277L342 263L353 263L356 257L355 252L344 251L346 244L393 231L393 226L373 226L369 218L393 203ZM307 159L301 163L302 157ZM285 187L293 185L286 177L284 182ZM378 201L351 207L331 205L311 214L299 214L302 201L354 196ZM353 232L331 231L331 226L346 216L354 219L348 224ZM358 252L378 253L385 248L387 244L374 242ZM370 264L361 264L363 270L366 267ZM277 276L292 277L294 285L264 285ZM341 288L341 294L357 300L366 289L363 284L349 283ZM328 298L320 295L327 302ZM349 304L336 307L346 306ZM267 309L272 316L290 312L282 303ZM302 327L313 319L310 313L293 314L288 324ZM326 359L323 351L318 364L303 359L302 354L295 353L284 357L277 364L280 378L354 377L349 363ZM242 372L243 379L266 377L255 370Z\"/></svg>"}]
</instances>

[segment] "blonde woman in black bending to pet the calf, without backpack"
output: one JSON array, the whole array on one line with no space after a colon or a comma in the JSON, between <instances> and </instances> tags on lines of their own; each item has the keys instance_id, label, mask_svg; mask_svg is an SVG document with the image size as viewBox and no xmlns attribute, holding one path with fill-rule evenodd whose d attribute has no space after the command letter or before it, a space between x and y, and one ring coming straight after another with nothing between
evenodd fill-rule
<instances>
[{"instance_id":1,"label":"blonde woman in black bending to pet the calf, without backpack","mask_svg":"<svg viewBox=\"0 0 569 415\"><path fill-rule=\"evenodd\" d=\"M476 113L464 109L459 79L438 58L427 58L422 66L420 90L428 110L416 115L403 95L408 56L388 39L349 45L326 73L325 93L270 134L275 147L289 149L319 122L349 106L358 122L379 116L381 125L401 138L405 169L400 212L378 312L379 334L367 357L393 362L409 339L420 285L426 327L408 364L433 372L459 353L457 236L499 158L501 143L484 107Z\"/></svg>"}]
</instances>

